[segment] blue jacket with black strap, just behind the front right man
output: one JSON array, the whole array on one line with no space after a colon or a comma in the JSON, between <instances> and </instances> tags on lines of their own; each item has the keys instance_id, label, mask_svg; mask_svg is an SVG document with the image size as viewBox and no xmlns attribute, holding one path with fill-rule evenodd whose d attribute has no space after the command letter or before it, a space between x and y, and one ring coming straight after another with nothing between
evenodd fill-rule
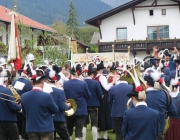
<instances>
[{"instance_id":1,"label":"blue jacket with black strap, just behind the front right man","mask_svg":"<svg viewBox=\"0 0 180 140\"><path fill-rule=\"evenodd\" d=\"M160 115L160 132L163 132L165 125L165 112L166 112L166 94L163 90L156 91L150 90L146 94L146 103L148 107L159 111ZM171 102L169 107L169 115L174 115L177 113L177 107L173 102Z\"/></svg>"}]
</instances>

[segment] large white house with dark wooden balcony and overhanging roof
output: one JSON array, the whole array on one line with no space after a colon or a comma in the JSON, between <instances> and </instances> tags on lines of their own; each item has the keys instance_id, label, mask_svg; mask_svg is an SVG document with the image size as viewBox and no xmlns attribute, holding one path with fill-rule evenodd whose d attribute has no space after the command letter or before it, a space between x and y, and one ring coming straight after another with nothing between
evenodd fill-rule
<instances>
[{"instance_id":1,"label":"large white house with dark wooden balcony and overhanging roof","mask_svg":"<svg viewBox=\"0 0 180 140\"><path fill-rule=\"evenodd\" d=\"M180 1L179 0L132 0L86 21L98 27L100 52L127 50L131 57L143 58L152 47L180 47ZM172 39L172 40L170 40ZM106 50L107 48L107 50Z\"/></svg>"}]
</instances>

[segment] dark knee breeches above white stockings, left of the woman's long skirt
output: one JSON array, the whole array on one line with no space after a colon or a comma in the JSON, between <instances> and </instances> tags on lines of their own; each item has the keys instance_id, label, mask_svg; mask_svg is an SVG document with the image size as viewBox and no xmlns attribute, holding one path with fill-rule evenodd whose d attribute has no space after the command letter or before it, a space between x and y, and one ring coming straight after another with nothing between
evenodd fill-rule
<instances>
[{"instance_id":1,"label":"dark knee breeches above white stockings, left of the woman's long skirt","mask_svg":"<svg viewBox=\"0 0 180 140\"><path fill-rule=\"evenodd\" d=\"M97 107L87 107L88 116L86 116L84 121L84 127L89 124L89 117L91 119L91 127L98 127L98 108Z\"/></svg>"}]
</instances>

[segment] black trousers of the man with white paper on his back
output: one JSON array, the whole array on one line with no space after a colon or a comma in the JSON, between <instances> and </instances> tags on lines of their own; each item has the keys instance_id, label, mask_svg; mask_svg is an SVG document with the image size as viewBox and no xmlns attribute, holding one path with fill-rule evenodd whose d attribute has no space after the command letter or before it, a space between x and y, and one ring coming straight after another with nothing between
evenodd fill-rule
<instances>
[{"instance_id":1,"label":"black trousers of the man with white paper on his back","mask_svg":"<svg viewBox=\"0 0 180 140\"><path fill-rule=\"evenodd\" d=\"M21 135L21 137L23 139L28 139L28 135L26 133L26 118L25 116L18 112L16 114L17 116L17 125L18 125L18 129L19 129L19 134Z\"/></svg>"}]
</instances>

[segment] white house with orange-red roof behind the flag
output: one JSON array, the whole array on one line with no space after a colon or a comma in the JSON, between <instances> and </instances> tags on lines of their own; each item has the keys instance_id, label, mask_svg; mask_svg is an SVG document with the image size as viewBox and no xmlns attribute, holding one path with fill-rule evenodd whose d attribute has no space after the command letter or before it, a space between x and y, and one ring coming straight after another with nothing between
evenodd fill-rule
<instances>
[{"instance_id":1,"label":"white house with orange-red roof behind the flag","mask_svg":"<svg viewBox=\"0 0 180 140\"><path fill-rule=\"evenodd\" d=\"M3 42L5 45L9 44L9 37L10 37L10 26L11 26L11 16L9 16L9 12L12 10L7 9L4 6L0 5L0 42ZM38 31L47 31L47 32L55 32L55 30L51 29L50 27L43 25L37 21L34 21L26 16L23 16L21 14L18 14L18 17L16 17L16 22L19 22L27 27L29 27L32 32L37 33ZM28 30L21 31L21 47L25 47L25 42L32 40L33 36L32 34L28 35ZM34 46L36 47L38 45L38 42L34 42Z\"/></svg>"}]
</instances>

